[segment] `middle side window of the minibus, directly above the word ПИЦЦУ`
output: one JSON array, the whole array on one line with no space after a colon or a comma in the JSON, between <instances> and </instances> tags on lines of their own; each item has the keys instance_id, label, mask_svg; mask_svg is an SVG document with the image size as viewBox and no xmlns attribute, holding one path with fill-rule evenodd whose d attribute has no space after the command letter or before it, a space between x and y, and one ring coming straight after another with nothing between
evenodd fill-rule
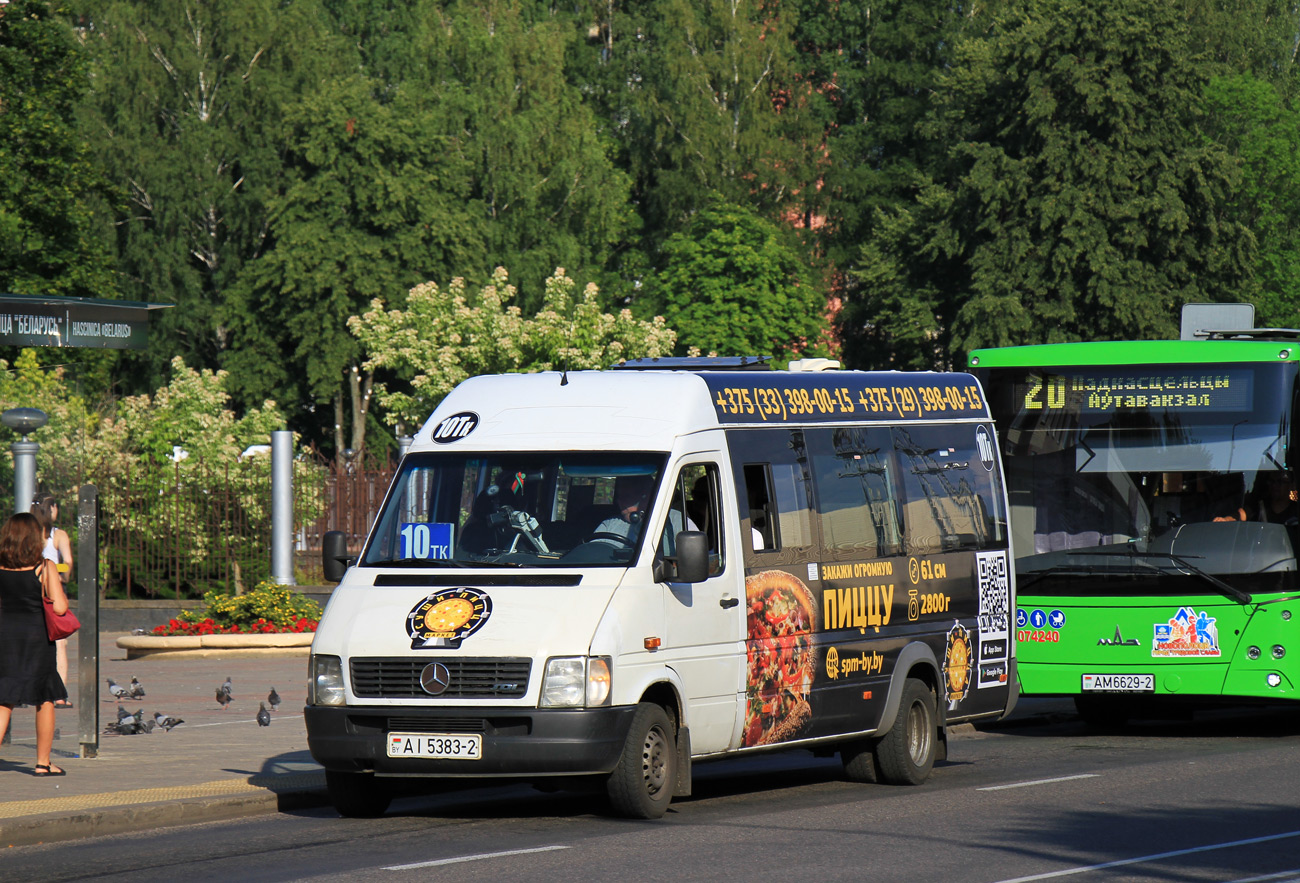
<instances>
[{"instance_id":1,"label":"middle side window of the minibus, directly above the word \u041f\u0418\u0426\u0426\u0423","mask_svg":"<svg viewBox=\"0 0 1300 883\"><path fill-rule=\"evenodd\" d=\"M893 440L887 429L809 430L822 542L833 559L902 551Z\"/></svg>"}]
</instances>

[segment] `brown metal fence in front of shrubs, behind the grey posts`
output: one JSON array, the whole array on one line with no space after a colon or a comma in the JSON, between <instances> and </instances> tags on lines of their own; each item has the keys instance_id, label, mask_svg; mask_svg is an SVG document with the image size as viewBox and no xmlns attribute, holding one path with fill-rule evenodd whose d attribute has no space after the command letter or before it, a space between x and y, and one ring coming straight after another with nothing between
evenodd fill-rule
<instances>
[{"instance_id":1,"label":"brown metal fence in front of shrubs, behind the grey posts","mask_svg":"<svg viewBox=\"0 0 1300 883\"><path fill-rule=\"evenodd\" d=\"M295 581L322 581L326 531L343 531L359 550L395 472L395 463L294 464ZM58 479L64 481L60 482ZM52 479L52 480L51 480ZM99 489L100 588L107 598L202 598L234 593L270 576L270 463L254 456L211 467L190 460L134 467L108 476L73 476L55 464L38 476L62 502L60 527L73 534L79 482ZM10 510L12 511L12 510Z\"/></svg>"}]
</instances>

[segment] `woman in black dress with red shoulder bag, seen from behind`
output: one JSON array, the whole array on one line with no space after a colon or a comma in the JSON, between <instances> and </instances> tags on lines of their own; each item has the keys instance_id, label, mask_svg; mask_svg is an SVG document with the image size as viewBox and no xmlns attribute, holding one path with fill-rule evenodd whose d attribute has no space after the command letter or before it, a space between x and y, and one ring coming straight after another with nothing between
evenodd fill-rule
<instances>
[{"instance_id":1,"label":"woman in black dress with red shoulder bag, seen from behind","mask_svg":"<svg viewBox=\"0 0 1300 883\"><path fill-rule=\"evenodd\" d=\"M32 775L65 775L52 766L55 702L68 698L55 668L55 642L46 632L42 596L55 613L68 610L62 580L44 557L46 537L30 512L10 515L0 527L0 737L16 705L36 709L36 769Z\"/></svg>"}]
</instances>

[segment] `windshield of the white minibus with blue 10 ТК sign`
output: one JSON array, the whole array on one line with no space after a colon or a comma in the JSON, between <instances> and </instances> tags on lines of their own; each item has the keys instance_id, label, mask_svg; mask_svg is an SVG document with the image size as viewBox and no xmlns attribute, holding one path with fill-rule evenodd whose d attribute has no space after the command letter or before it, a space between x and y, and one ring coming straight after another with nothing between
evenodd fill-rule
<instances>
[{"instance_id":1,"label":"windshield of the white minibus with blue 10 \u0422\u041a sign","mask_svg":"<svg viewBox=\"0 0 1300 883\"><path fill-rule=\"evenodd\" d=\"M412 454L363 567L625 567L663 454Z\"/></svg>"}]
</instances>

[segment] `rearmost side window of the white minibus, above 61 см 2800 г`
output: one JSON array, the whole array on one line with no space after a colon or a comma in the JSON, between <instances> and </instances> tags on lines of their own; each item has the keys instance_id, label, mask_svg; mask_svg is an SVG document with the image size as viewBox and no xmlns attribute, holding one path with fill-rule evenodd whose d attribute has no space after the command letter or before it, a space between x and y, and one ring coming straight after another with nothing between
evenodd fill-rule
<instances>
[{"instance_id":1,"label":"rearmost side window of the white minibus, above 61 \u0441\u043c 2800 \u0433","mask_svg":"<svg viewBox=\"0 0 1300 883\"><path fill-rule=\"evenodd\" d=\"M956 424L892 432L904 485L905 554L1004 546L997 463L983 464L976 429Z\"/></svg>"}]
</instances>

